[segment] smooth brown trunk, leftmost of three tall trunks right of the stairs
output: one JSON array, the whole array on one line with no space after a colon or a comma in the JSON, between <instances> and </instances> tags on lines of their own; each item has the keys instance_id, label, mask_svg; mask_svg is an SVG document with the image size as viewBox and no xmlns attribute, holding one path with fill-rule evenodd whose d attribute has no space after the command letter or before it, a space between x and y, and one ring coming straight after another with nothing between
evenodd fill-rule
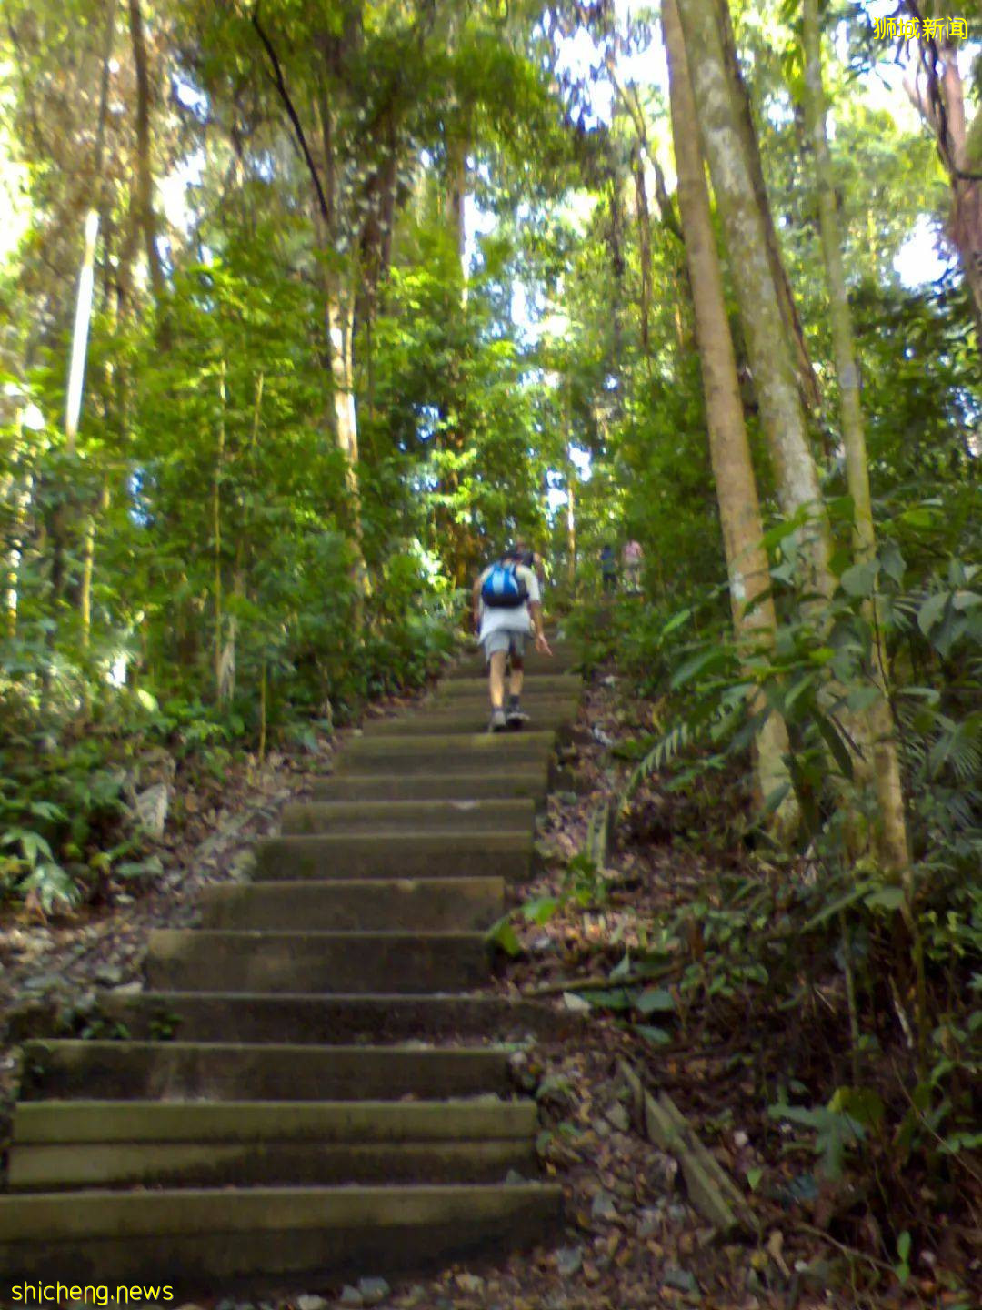
<instances>
[{"instance_id":1,"label":"smooth brown trunk, leftmost of three tall trunks right of the stairs","mask_svg":"<svg viewBox=\"0 0 982 1310\"><path fill-rule=\"evenodd\" d=\"M762 545L761 507L744 424L736 354L727 320L723 274L699 149L695 101L676 0L663 0L661 21L668 52L678 206L706 394L710 458L729 574L733 630L737 645L749 652L754 647L773 646L776 616L769 593L770 574L767 554ZM762 709L763 697L757 692L750 710L758 713ZM797 812L787 753L788 735L784 720L771 713L765 719L757 739L755 803L759 812L767 798L782 789L786 799L776 811L775 825L782 836L790 837L797 823Z\"/></svg>"}]
</instances>

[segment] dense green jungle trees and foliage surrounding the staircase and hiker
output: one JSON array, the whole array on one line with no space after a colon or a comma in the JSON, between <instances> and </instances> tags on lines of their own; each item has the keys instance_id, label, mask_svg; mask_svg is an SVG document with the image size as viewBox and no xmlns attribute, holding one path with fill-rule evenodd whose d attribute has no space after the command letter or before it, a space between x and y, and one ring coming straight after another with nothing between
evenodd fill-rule
<instances>
[{"instance_id":1,"label":"dense green jungle trees and foliage surrounding the staircase and hiker","mask_svg":"<svg viewBox=\"0 0 982 1310\"><path fill-rule=\"evenodd\" d=\"M7 0L9 912L152 880L141 760L220 778L423 686L524 536L630 685L614 842L657 779L720 870L634 967L814 1007L775 1116L829 1186L871 1165L901 1282L926 1214L964 1235L979 42L956 0Z\"/></svg>"}]
</instances>

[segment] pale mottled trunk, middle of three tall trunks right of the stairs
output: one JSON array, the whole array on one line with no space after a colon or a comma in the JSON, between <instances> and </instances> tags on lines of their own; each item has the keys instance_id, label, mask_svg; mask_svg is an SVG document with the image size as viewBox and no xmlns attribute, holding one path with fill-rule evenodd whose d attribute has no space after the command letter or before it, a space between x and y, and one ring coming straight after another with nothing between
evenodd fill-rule
<instances>
[{"instance_id":1,"label":"pale mottled trunk, middle of three tall trunks right of the stairs","mask_svg":"<svg viewBox=\"0 0 982 1310\"><path fill-rule=\"evenodd\" d=\"M678 0L678 17L780 506L788 517L799 511L808 515L801 528L808 566L804 575L799 570L799 587L803 593L830 596L829 524L796 360L774 282L767 224L738 124L716 0Z\"/></svg>"}]
</instances>

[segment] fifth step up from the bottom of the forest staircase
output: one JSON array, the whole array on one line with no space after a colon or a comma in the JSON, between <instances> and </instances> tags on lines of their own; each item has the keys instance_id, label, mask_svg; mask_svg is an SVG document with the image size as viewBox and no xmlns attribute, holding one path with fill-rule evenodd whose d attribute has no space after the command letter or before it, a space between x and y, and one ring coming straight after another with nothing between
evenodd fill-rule
<instances>
[{"instance_id":1,"label":"fifth step up from the bottom of the forest staircase","mask_svg":"<svg viewBox=\"0 0 982 1310\"><path fill-rule=\"evenodd\" d=\"M482 933L157 929L145 964L161 992L466 992L488 973Z\"/></svg>"}]
</instances>

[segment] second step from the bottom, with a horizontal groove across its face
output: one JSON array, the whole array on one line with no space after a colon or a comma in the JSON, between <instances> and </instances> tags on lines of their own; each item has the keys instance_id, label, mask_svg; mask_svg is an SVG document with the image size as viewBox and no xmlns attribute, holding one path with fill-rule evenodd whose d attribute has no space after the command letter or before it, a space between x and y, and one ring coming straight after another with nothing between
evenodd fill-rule
<instances>
[{"instance_id":1,"label":"second step from the bottom, with a horizontal groove across its face","mask_svg":"<svg viewBox=\"0 0 982 1310\"><path fill-rule=\"evenodd\" d=\"M8 1186L257 1187L534 1175L534 1102L35 1102L14 1112Z\"/></svg>"}]
</instances>

